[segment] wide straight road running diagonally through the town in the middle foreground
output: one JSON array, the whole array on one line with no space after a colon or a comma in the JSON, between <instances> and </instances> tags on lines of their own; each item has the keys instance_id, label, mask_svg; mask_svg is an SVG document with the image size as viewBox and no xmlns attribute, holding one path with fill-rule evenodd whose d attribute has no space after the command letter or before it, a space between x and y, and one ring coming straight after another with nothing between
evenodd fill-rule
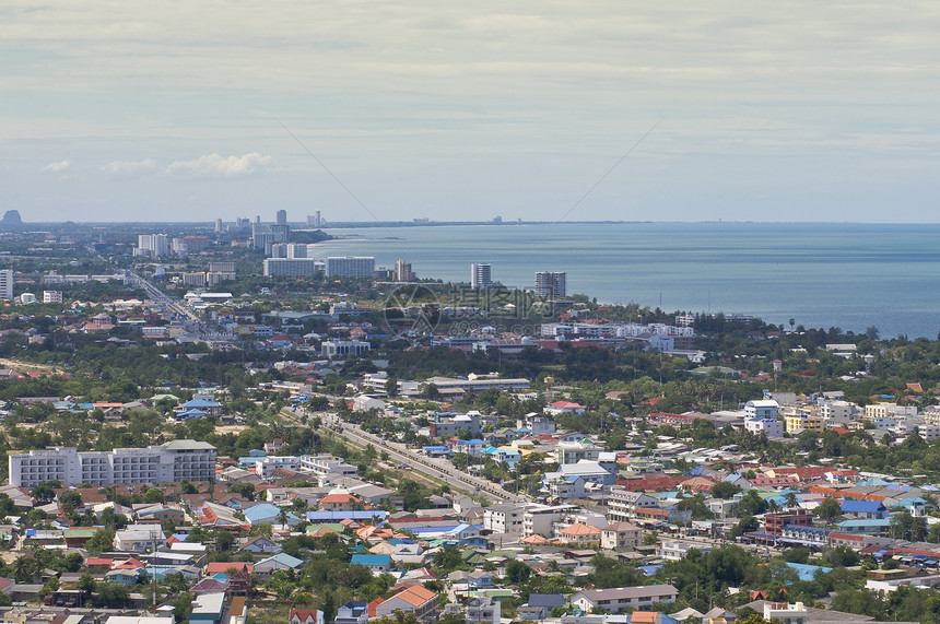
<instances>
[{"instance_id":1,"label":"wide straight road running diagonally through the town in the middle foreground","mask_svg":"<svg viewBox=\"0 0 940 624\"><path fill-rule=\"evenodd\" d=\"M293 415L293 414L292 414ZM402 444L383 440L380 437L362 431L357 425L340 420L336 414L321 414L324 424L330 428L341 426L342 435L361 445L373 445L376 450L386 451L389 457L409 463L414 470L465 491L482 494L497 503L525 503L524 496L506 492L495 483L479 476L472 476L455 468L449 461L426 457L409 449Z\"/></svg>"}]
</instances>

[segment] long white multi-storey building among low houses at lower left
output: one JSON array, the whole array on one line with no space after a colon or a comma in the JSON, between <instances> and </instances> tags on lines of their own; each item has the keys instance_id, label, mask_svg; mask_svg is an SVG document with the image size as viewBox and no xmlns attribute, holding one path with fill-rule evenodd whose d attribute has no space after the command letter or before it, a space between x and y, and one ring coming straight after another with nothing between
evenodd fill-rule
<instances>
[{"instance_id":1,"label":"long white multi-storey building among low houses at lower left","mask_svg":"<svg viewBox=\"0 0 940 624\"><path fill-rule=\"evenodd\" d=\"M127 485L211 481L215 476L215 447L204 441L179 439L146 448L79 451L50 447L9 456L10 484L35 487L46 481L66 486L79 483Z\"/></svg>"}]
</instances>

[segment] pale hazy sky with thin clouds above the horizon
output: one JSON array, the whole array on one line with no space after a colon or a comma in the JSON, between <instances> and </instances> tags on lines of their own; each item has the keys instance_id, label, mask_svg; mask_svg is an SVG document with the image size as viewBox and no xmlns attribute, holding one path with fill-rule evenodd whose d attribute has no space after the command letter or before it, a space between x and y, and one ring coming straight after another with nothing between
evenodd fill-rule
<instances>
[{"instance_id":1,"label":"pale hazy sky with thin clouds above the horizon","mask_svg":"<svg viewBox=\"0 0 940 624\"><path fill-rule=\"evenodd\" d=\"M940 221L937 2L4 0L0 24L25 221Z\"/></svg>"}]
</instances>

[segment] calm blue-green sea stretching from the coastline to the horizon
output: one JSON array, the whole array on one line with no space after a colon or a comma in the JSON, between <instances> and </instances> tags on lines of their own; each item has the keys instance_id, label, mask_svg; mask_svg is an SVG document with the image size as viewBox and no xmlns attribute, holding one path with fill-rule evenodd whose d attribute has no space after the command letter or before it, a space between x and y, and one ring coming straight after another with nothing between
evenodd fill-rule
<instances>
[{"instance_id":1,"label":"calm blue-green sea stretching from the coastline to the horizon","mask_svg":"<svg viewBox=\"0 0 940 624\"><path fill-rule=\"evenodd\" d=\"M568 294L665 310L751 314L882 338L940 331L940 224L561 223L329 229L318 256L399 258L419 278L507 286L567 273Z\"/></svg>"}]
</instances>

